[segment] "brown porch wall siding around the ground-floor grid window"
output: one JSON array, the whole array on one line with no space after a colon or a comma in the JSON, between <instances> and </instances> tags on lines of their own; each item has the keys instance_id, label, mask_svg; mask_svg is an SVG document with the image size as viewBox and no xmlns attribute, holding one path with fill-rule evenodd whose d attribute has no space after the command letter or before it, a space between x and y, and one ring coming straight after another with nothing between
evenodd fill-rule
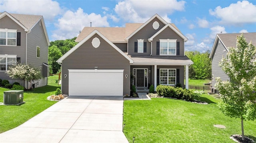
<instances>
[{"instance_id":1,"label":"brown porch wall siding around the ground-floor grid window","mask_svg":"<svg viewBox=\"0 0 256 143\"><path fill-rule=\"evenodd\" d=\"M184 86L184 66L157 66L157 69L180 69L180 84ZM154 66L152 66L152 83L154 84Z\"/></svg>"}]
</instances>

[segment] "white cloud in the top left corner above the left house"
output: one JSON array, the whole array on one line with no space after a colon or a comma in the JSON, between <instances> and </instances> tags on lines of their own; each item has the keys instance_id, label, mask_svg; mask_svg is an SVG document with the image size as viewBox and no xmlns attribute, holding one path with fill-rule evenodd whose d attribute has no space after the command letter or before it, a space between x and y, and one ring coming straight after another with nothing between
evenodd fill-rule
<instances>
[{"instance_id":1,"label":"white cloud in the top left corner above the left house","mask_svg":"<svg viewBox=\"0 0 256 143\"><path fill-rule=\"evenodd\" d=\"M62 11L52 0L1 0L0 8L1 12L42 15L45 20L53 20Z\"/></svg>"}]
</instances>

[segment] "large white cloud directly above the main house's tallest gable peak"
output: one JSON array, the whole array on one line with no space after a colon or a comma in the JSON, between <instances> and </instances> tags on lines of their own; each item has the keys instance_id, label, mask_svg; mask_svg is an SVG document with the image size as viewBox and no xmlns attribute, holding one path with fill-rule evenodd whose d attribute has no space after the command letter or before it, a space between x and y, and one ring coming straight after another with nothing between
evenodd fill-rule
<instances>
[{"instance_id":1,"label":"large white cloud directly above the main house's tallest gable peak","mask_svg":"<svg viewBox=\"0 0 256 143\"><path fill-rule=\"evenodd\" d=\"M185 1L176 0L124 0L118 2L114 8L116 14L125 22L146 22L154 14L159 14L166 22L171 22L168 14L183 11Z\"/></svg>"}]
</instances>

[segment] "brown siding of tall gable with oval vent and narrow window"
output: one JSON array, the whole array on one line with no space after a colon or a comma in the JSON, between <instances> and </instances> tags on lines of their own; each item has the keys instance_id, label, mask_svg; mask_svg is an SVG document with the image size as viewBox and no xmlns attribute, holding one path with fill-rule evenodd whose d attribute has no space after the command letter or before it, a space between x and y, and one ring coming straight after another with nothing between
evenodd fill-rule
<instances>
[{"instance_id":1,"label":"brown siding of tall gable with oval vent and narrow window","mask_svg":"<svg viewBox=\"0 0 256 143\"><path fill-rule=\"evenodd\" d=\"M153 23L157 21L159 23L159 28L154 29ZM152 37L156 32L158 32L162 27L164 27L164 23L162 23L158 18L154 18L151 22L145 25L140 31L135 33L129 40L128 40L128 54L129 55L150 55L151 50L151 43L148 42L148 39ZM144 42L147 42L147 52L146 53L134 53L134 42L137 42L138 39L144 39Z\"/></svg>"}]
</instances>

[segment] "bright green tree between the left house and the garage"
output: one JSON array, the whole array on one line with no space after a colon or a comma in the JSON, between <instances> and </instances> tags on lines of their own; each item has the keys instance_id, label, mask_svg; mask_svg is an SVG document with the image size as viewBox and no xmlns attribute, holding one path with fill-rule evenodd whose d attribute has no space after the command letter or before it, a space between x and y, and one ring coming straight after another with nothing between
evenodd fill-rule
<instances>
[{"instance_id":1,"label":"bright green tree between the left house and the garage","mask_svg":"<svg viewBox=\"0 0 256 143\"><path fill-rule=\"evenodd\" d=\"M48 48L48 64L52 73L58 72L60 66L56 61L62 56L60 49L57 46L52 45Z\"/></svg>"}]
</instances>

